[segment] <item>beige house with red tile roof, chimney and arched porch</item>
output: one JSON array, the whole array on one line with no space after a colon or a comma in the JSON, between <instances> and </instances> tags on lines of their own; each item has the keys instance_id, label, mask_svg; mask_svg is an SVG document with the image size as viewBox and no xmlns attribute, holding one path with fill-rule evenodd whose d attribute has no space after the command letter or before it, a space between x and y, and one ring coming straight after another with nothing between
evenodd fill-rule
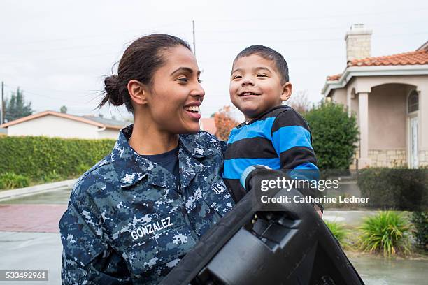
<instances>
[{"instance_id":1,"label":"beige house with red tile roof, chimney and arched porch","mask_svg":"<svg viewBox=\"0 0 428 285\"><path fill-rule=\"evenodd\" d=\"M357 115L354 167L428 164L428 42L413 52L371 57L371 31L352 25L347 66L322 94Z\"/></svg>"}]
</instances>

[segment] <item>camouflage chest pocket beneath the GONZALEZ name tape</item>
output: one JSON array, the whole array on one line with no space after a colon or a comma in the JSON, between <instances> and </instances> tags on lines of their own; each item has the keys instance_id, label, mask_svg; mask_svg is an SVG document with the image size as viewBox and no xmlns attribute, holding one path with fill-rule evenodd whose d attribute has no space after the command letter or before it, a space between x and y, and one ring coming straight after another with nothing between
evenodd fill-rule
<instances>
[{"instance_id":1,"label":"camouflage chest pocket beneath the GONZALEZ name tape","mask_svg":"<svg viewBox=\"0 0 428 285\"><path fill-rule=\"evenodd\" d=\"M121 233L123 256L136 277L165 276L196 244L181 212Z\"/></svg>"}]
</instances>

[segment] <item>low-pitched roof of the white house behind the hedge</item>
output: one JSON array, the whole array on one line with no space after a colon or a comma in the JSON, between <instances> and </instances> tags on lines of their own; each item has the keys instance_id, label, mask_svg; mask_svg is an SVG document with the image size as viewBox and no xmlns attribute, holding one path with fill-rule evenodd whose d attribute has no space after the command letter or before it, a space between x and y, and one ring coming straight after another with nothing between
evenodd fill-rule
<instances>
[{"instance_id":1,"label":"low-pitched roof of the white house behind the hedge","mask_svg":"<svg viewBox=\"0 0 428 285\"><path fill-rule=\"evenodd\" d=\"M100 128L106 128L106 129L120 130L124 126L127 126L127 124L128 124L127 122L120 122L120 121L116 121L113 119L103 119L103 118L90 117L90 116L76 116L76 115L70 115L70 114L66 114L66 113L62 113L62 112L55 112L55 111L48 110L48 111L44 111L44 112L39 112L39 113L34 114L34 115L29 115L27 117L22 117L20 119L15 119L11 122L7 122L5 124L2 124L0 127L7 128L8 126L13 126L15 124L20 124L22 122L30 121L31 119L37 119L39 117L44 117L44 116L48 116L48 115L52 115L55 117L62 117L64 119L71 119L73 121L82 122L85 124L91 124L93 126L98 126Z\"/></svg>"}]
</instances>

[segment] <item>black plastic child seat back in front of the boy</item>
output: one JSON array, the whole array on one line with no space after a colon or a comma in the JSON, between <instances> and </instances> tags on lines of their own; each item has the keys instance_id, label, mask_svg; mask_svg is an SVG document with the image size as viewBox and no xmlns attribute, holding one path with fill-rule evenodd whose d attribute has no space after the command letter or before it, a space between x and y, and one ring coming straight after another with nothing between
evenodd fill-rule
<instances>
[{"instance_id":1,"label":"black plastic child seat back in front of the boy","mask_svg":"<svg viewBox=\"0 0 428 285\"><path fill-rule=\"evenodd\" d=\"M364 284L313 205L278 203L266 211L256 198L261 180L285 173L255 171L252 190L160 284ZM266 196L303 197L296 189Z\"/></svg>"}]
</instances>

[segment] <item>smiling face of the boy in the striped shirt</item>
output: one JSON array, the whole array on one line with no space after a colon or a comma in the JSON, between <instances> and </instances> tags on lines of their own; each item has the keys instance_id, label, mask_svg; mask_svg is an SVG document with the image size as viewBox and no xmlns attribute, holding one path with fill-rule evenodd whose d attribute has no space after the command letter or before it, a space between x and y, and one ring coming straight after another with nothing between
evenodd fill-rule
<instances>
[{"instance_id":1,"label":"smiling face of the boy in the striped shirt","mask_svg":"<svg viewBox=\"0 0 428 285\"><path fill-rule=\"evenodd\" d=\"M281 105L291 91L290 82L281 84L275 63L257 54L240 57L232 67L230 100L246 120Z\"/></svg>"}]
</instances>

